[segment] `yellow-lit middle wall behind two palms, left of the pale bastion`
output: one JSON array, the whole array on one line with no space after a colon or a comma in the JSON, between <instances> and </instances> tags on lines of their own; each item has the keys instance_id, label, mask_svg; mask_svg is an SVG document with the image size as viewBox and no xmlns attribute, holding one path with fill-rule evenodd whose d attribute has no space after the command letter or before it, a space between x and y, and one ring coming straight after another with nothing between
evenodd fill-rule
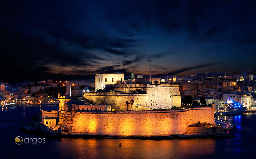
<instances>
[{"instance_id":1,"label":"yellow-lit middle wall behind two palms, left of the pale bastion","mask_svg":"<svg viewBox=\"0 0 256 159\"><path fill-rule=\"evenodd\" d=\"M133 105L146 107L146 94L121 94L120 92L85 92L84 98L97 104L111 104L116 110L127 110L126 101L134 100ZM131 104L129 105L131 110Z\"/></svg>"}]
</instances>

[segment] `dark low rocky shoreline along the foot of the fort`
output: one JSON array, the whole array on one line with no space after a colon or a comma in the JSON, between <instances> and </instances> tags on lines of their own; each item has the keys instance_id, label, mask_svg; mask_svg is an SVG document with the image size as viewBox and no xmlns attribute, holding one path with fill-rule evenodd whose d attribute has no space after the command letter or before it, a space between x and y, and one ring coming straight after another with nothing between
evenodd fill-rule
<instances>
[{"instance_id":1,"label":"dark low rocky shoreline along the foot of the fort","mask_svg":"<svg viewBox=\"0 0 256 159\"><path fill-rule=\"evenodd\" d=\"M184 134L164 134L156 136L111 136L90 133L67 133L65 131L53 130L48 126L35 123L19 127L24 133L37 135L45 138L84 138L84 139L141 139L141 140L172 140L172 139L195 139L195 138L227 138L235 137L229 133L184 133Z\"/></svg>"}]
</instances>

